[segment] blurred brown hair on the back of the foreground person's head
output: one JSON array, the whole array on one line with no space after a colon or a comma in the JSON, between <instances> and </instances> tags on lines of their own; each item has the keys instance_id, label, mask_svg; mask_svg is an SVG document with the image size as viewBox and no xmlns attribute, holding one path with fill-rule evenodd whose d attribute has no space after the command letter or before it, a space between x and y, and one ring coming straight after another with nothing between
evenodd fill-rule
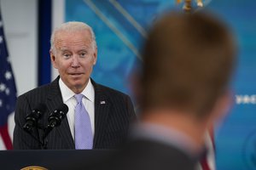
<instances>
[{"instance_id":1,"label":"blurred brown hair on the back of the foreground person's head","mask_svg":"<svg viewBox=\"0 0 256 170\"><path fill-rule=\"evenodd\" d=\"M215 16L166 14L143 49L143 110L207 114L228 88L235 56L230 30Z\"/></svg>"}]
</instances>

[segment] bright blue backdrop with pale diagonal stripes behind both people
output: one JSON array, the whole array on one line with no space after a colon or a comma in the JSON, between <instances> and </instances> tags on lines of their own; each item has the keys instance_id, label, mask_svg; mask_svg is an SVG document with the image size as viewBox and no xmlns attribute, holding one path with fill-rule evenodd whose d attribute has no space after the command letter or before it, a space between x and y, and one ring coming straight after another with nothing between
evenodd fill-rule
<instances>
[{"instance_id":1,"label":"bright blue backdrop with pale diagonal stripes behind both people","mask_svg":"<svg viewBox=\"0 0 256 170\"><path fill-rule=\"evenodd\" d=\"M204 3L230 25L239 43L234 107L215 133L217 169L256 169L256 1ZM181 6L174 0L66 0L65 20L84 21L94 29L96 82L131 94L130 76L142 62L140 48L148 26L159 14Z\"/></svg>"}]
</instances>

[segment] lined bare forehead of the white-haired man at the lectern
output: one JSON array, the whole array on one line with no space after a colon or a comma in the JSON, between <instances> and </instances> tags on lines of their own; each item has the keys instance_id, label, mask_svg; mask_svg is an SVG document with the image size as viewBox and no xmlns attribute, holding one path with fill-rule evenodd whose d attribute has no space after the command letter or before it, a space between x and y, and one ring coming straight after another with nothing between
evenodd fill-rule
<instances>
[{"instance_id":1,"label":"lined bare forehead of the white-haired man at the lectern","mask_svg":"<svg viewBox=\"0 0 256 170\"><path fill-rule=\"evenodd\" d=\"M90 31L57 31L55 33L55 48L90 48L92 42Z\"/></svg>"}]
</instances>

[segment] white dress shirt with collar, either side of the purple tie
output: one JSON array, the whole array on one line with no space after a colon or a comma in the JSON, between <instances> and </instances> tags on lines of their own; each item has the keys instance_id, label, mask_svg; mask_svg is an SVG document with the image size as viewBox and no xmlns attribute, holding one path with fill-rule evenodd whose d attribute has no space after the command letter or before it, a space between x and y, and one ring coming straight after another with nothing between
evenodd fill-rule
<instances>
[{"instance_id":1,"label":"white dress shirt with collar, either side of the purple tie","mask_svg":"<svg viewBox=\"0 0 256 170\"><path fill-rule=\"evenodd\" d=\"M63 99L63 103L68 106L68 112L67 112L67 121L70 127L70 131L72 133L72 137L74 139L74 110L75 106L77 105L77 100L74 98L75 93L69 88L67 88L66 84L61 80L59 80L59 85L61 88L61 96ZM95 108L94 108L94 103L95 103L95 91L93 88L93 85L90 82L87 84L87 86L84 88L83 92L81 94L84 94L83 98L83 104L90 116L90 125L91 125L91 130L92 134L94 135L95 132Z\"/></svg>"}]
</instances>

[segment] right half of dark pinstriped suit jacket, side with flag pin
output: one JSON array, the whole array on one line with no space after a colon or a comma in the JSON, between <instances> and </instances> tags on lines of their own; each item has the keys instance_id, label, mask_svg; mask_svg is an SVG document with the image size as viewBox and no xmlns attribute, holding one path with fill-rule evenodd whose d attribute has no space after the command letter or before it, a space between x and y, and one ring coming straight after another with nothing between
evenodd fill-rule
<instances>
[{"instance_id":1,"label":"right half of dark pinstriped suit jacket, side with flag pin","mask_svg":"<svg viewBox=\"0 0 256 170\"><path fill-rule=\"evenodd\" d=\"M96 149L113 149L122 144L136 115L130 97L91 81L95 88Z\"/></svg>"}]
</instances>

